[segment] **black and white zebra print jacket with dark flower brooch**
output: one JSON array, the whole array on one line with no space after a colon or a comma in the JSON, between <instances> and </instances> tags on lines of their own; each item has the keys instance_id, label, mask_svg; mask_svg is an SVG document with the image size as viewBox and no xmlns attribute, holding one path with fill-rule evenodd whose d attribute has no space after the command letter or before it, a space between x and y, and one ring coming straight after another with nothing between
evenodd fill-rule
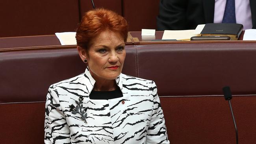
<instances>
[{"instance_id":1,"label":"black and white zebra print jacket with dark flower brooch","mask_svg":"<svg viewBox=\"0 0 256 144\"><path fill-rule=\"evenodd\" d=\"M89 73L50 86L46 99L45 143L169 144L154 81L120 74L123 97L90 100Z\"/></svg>"}]
</instances>

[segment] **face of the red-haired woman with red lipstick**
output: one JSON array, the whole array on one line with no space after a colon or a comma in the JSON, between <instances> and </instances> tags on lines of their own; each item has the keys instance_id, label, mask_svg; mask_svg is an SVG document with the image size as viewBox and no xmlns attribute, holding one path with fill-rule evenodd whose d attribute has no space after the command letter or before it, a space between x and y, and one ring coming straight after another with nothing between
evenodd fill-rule
<instances>
[{"instance_id":1,"label":"face of the red-haired woman with red lipstick","mask_svg":"<svg viewBox=\"0 0 256 144\"><path fill-rule=\"evenodd\" d=\"M92 39L88 51L84 52L89 71L96 81L116 79L122 72L125 56L124 39L111 31L104 31Z\"/></svg>"}]
</instances>

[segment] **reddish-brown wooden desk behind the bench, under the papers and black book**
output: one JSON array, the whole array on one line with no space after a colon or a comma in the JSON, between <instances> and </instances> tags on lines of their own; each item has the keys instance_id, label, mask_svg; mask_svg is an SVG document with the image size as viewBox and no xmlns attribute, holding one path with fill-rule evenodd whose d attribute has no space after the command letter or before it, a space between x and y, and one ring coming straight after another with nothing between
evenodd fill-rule
<instances>
[{"instance_id":1,"label":"reddish-brown wooden desk behind the bench, under the papers and black book","mask_svg":"<svg viewBox=\"0 0 256 144\"><path fill-rule=\"evenodd\" d=\"M241 41L244 31L238 41L152 41L161 39L163 31L156 31L154 36L141 36L141 31L130 32L133 38L137 38L137 42L127 42L126 45L134 44L164 44L164 43L193 43L193 42L256 42L256 41ZM26 37L3 37L0 38L0 52L9 52L17 50L39 50L39 49L67 49L76 48L76 45L61 46L56 35L37 35Z\"/></svg>"}]
</instances>

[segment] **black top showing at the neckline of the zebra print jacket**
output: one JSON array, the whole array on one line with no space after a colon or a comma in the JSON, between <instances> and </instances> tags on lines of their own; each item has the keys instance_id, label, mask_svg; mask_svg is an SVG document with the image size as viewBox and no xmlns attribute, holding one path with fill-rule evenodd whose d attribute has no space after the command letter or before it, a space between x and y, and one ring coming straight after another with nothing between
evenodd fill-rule
<instances>
[{"instance_id":1,"label":"black top showing at the neckline of the zebra print jacket","mask_svg":"<svg viewBox=\"0 0 256 144\"><path fill-rule=\"evenodd\" d=\"M113 91L95 91L92 90L89 98L92 100L109 100L113 98L121 98L122 91L120 89L116 89Z\"/></svg>"}]
</instances>

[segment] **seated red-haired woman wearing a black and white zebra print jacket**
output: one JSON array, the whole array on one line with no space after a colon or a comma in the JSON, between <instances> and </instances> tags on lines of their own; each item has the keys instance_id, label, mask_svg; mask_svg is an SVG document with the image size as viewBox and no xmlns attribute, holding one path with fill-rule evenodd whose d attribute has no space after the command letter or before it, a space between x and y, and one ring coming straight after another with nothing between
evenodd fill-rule
<instances>
[{"instance_id":1,"label":"seated red-haired woman wearing a black and white zebra print jacket","mask_svg":"<svg viewBox=\"0 0 256 144\"><path fill-rule=\"evenodd\" d=\"M88 67L50 86L45 143L169 144L154 81L121 73L127 33L113 11L85 13L76 41Z\"/></svg>"}]
</instances>

